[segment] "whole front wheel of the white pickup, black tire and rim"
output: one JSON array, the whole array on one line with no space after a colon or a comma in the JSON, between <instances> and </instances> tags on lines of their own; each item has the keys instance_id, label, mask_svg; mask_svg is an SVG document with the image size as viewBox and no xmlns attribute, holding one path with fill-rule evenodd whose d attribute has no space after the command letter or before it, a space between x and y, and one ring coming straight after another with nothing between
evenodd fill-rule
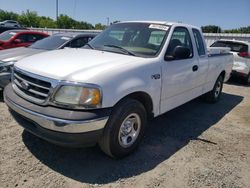
<instances>
[{"instance_id":1,"label":"whole front wheel of the white pickup, black tire and rim","mask_svg":"<svg viewBox=\"0 0 250 188\"><path fill-rule=\"evenodd\" d=\"M119 102L99 141L101 150L113 158L131 154L144 135L146 114L144 106L137 100L124 99Z\"/></svg>"}]
</instances>

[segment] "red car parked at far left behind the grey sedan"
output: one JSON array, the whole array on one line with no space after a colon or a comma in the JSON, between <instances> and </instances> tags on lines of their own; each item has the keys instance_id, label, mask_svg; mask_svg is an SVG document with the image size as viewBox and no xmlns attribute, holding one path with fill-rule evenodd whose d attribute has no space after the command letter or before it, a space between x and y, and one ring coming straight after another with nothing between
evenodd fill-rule
<instances>
[{"instance_id":1,"label":"red car parked at far left behind the grey sedan","mask_svg":"<svg viewBox=\"0 0 250 188\"><path fill-rule=\"evenodd\" d=\"M30 44L48 37L46 33L30 30L9 30L0 34L0 50L29 46Z\"/></svg>"}]
</instances>

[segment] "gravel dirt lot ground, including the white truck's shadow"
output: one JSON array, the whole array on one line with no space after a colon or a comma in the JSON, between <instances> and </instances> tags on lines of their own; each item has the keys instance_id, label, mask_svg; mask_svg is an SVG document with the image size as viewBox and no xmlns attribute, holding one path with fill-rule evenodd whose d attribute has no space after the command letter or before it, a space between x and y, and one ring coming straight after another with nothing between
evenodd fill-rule
<instances>
[{"instance_id":1,"label":"gravel dirt lot ground, including the white truck's shadow","mask_svg":"<svg viewBox=\"0 0 250 188\"><path fill-rule=\"evenodd\" d=\"M1 100L1 99L0 99ZM122 160L65 149L23 131L0 101L0 187L250 187L250 87L225 84L153 120Z\"/></svg>"}]
</instances>

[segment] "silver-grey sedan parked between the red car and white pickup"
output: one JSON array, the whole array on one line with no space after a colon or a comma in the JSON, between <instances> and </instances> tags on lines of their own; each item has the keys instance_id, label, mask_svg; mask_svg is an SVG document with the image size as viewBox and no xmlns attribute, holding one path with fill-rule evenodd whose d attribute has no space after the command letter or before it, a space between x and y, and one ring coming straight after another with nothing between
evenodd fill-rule
<instances>
[{"instance_id":1,"label":"silver-grey sedan parked between the red car and white pickup","mask_svg":"<svg viewBox=\"0 0 250 188\"><path fill-rule=\"evenodd\" d=\"M57 33L28 47L0 51L0 88L4 88L10 82L10 69L18 60L48 50L62 49L64 47L80 48L96 35L97 33Z\"/></svg>"}]
</instances>

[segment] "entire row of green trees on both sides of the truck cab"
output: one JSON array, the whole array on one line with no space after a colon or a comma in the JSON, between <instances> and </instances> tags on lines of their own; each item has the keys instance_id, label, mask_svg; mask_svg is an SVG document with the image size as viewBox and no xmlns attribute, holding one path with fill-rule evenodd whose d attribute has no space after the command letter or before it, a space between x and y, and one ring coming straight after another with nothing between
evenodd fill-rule
<instances>
[{"instance_id":1,"label":"entire row of green trees on both sides of the truck cab","mask_svg":"<svg viewBox=\"0 0 250 188\"><path fill-rule=\"evenodd\" d=\"M61 14L57 21L46 16L39 16L37 12L27 10L21 14L8 12L0 9L0 21L16 20L24 27L61 28L61 29L105 29L101 23L92 25L84 21L77 21L68 15ZM250 26L230 30L222 30L216 25L201 27L203 33L250 33Z\"/></svg>"}]
</instances>

